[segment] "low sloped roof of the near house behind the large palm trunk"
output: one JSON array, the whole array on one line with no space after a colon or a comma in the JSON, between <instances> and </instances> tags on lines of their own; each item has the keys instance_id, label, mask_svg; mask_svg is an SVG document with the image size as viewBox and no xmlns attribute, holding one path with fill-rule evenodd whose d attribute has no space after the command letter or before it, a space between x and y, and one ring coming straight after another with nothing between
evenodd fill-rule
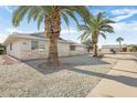
<instances>
[{"instance_id":1,"label":"low sloped roof of the near house behind the large palm trunk","mask_svg":"<svg viewBox=\"0 0 137 103\"><path fill-rule=\"evenodd\" d=\"M7 44L8 42L11 42L14 39L31 39L31 40L49 40L45 35L44 32L34 32L34 33L19 33L19 32L13 32L10 34L3 42L3 44ZM71 40L64 40L62 38L59 38L59 42L63 43L70 43L71 45L82 45L86 47L84 44L71 41Z\"/></svg>"}]
</instances>

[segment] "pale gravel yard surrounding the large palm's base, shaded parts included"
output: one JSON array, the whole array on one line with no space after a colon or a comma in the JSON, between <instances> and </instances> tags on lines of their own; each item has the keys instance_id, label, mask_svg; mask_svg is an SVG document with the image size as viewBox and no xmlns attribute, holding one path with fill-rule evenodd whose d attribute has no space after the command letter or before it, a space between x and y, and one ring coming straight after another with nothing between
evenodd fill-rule
<instances>
[{"instance_id":1,"label":"pale gravel yard surrounding the large palm's base, shaded parts included","mask_svg":"<svg viewBox=\"0 0 137 103\"><path fill-rule=\"evenodd\" d=\"M116 59L87 55L62 58L62 69L40 68L45 60L0 65L0 96L84 97Z\"/></svg>"}]
</instances>

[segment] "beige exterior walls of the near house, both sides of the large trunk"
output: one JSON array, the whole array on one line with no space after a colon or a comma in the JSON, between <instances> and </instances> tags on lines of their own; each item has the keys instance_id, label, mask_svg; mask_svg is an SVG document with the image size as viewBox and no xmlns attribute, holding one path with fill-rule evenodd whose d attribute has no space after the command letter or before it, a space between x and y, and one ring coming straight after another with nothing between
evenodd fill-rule
<instances>
[{"instance_id":1,"label":"beige exterior walls of the near house, both sides of the large trunk","mask_svg":"<svg viewBox=\"0 0 137 103\"><path fill-rule=\"evenodd\" d=\"M29 39L18 39L17 41L12 41L12 51L10 51L10 44L7 45L7 53L12 55L19 60L31 60L31 59L44 59L49 55L49 40L39 41L39 49L31 50L31 41ZM38 40L35 40L38 41ZM44 49L40 49L40 45L43 45ZM57 43L59 56L70 56L70 55L78 55L85 54L85 47L75 47L75 51L70 50L70 43L61 42Z\"/></svg>"}]
</instances>

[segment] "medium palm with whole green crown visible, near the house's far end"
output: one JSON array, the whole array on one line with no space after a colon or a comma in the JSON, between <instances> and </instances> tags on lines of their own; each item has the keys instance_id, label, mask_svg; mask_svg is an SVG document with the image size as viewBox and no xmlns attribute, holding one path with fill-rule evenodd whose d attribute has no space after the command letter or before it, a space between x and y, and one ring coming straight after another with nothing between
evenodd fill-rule
<instances>
[{"instance_id":1,"label":"medium palm with whole green crown visible, near the house's far end","mask_svg":"<svg viewBox=\"0 0 137 103\"><path fill-rule=\"evenodd\" d=\"M91 22L78 25L78 30L83 31L81 40L92 39L94 56L97 56L98 37L106 39L105 33L114 33L110 23L115 22L106 19L104 12L99 12L97 16L91 16Z\"/></svg>"}]
</instances>

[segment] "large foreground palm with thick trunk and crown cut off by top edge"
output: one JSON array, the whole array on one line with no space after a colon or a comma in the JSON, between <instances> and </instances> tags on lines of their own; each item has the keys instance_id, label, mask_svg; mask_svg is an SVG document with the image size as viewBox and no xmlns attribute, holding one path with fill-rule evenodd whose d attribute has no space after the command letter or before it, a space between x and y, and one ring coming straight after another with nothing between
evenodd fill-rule
<instances>
[{"instance_id":1,"label":"large foreground palm with thick trunk and crown cut off by top edge","mask_svg":"<svg viewBox=\"0 0 137 103\"><path fill-rule=\"evenodd\" d=\"M13 25L18 27L27 14L28 22L31 20L38 21L38 29L40 29L41 23L44 23L45 35L50 39L48 63L54 66L60 65L57 39L61 33L61 19L63 19L68 25L70 18L78 24L76 14L78 14L84 21L88 21L89 17L88 9L84 6L22 6L18 7L13 12Z\"/></svg>"}]
</instances>

